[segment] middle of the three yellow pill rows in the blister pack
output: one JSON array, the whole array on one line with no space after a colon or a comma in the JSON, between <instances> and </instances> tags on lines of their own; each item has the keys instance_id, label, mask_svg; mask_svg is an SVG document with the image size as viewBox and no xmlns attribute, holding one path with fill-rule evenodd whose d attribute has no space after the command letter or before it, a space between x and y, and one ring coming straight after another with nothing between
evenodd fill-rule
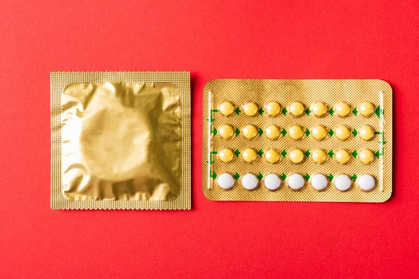
<instances>
[{"instance_id":1,"label":"middle of the three yellow pill rows in the blister pack","mask_svg":"<svg viewBox=\"0 0 419 279\"><path fill-rule=\"evenodd\" d=\"M223 124L219 126L218 133L221 138L224 140L230 140L233 138L237 133L235 133L235 129L233 126L229 124ZM247 140L253 140L258 136L259 133L258 128L254 125L245 125L240 130L240 133L242 134L242 137L244 137ZM301 140L304 135L311 134L312 137L314 137L315 140L324 140L328 136L328 130L325 128L325 126L318 125L311 128L311 132L304 132L304 128L299 125L293 125L290 128L288 128L288 131L282 131L279 129L278 126L275 125L268 125L265 128L265 135L269 140L277 140L281 135L288 135L293 140ZM351 137L352 130L348 126L341 125L338 126L335 129L335 132L332 132L335 137L337 137L338 140L348 140L349 137ZM357 131L358 133L358 131ZM331 134L331 133L330 133ZM369 125L363 125L359 129L359 136L362 140L369 141L372 140L372 138L375 135L375 130Z\"/></svg>"}]
</instances>

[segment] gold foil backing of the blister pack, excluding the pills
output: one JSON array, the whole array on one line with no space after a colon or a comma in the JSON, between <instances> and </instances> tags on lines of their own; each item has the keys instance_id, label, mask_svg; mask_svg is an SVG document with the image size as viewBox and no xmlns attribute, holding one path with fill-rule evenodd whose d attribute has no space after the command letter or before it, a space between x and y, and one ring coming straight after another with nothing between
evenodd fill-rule
<instances>
[{"instance_id":1,"label":"gold foil backing of the blister pack, excluding the pills","mask_svg":"<svg viewBox=\"0 0 419 279\"><path fill-rule=\"evenodd\" d=\"M378 115L363 117L359 113L355 116L353 112L344 118L337 114L326 114L321 118L315 117L312 113L295 118L289 113L284 116L269 117L266 113L257 114L253 117L240 114L223 116L216 112L219 103L228 100L235 105L235 108L247 101L253 101L259 107L263 107L269 101L277 101L281 109L286 108L293 101L297 100L304 104L305 108L310 107L316 101L323 101L328 110L336 103L343 100L351 104L352 110L364 101L372 102L378 109ZM203 100L204 126L203 126L203 193L208 199L215 201L299 201L299 202L385 202L392 193L392 89L387 82L382 80L212 80L205 85ZM279 126L280 129L288 130L293 124L300 125L311 130L316 125L323 125L328 130L335 130L339 125L346 125L351 129L359 130L362 125L369 125L374 128L378 135L373 140L365 142L359 135L351 137L346 141L340 141L335 135L327 137L323 141L314 140L309 135L302 140L291 140L288 135L279 137L279 140L269 140L265 135L256 137L254 140L245 140L242 135L233 137L230 140L223 140L219 135L214 136L214 129L221 124L230 124L234 128L242 128L244 124L252 123L258 128L265 130L268 124ZM221 163L216 158L215 152L221 147L229 147L235 151L253 147L256 150L267 150L270 147L280 152L287 152L297 147L302 151L314 149L325 149L326 152L337 151L337 149L348 149L350 152L366 148L379 152L371 165L363 165L357 158L351 158L347 165L339 165L334 158L328 158L323 165L318 165L306 158L303 163L295 165L282 158L279 163L270 164L264 158L258 158L256 163L248 164L238 157L232 163ZM236 179L231 190L223 190L216 185L216 176L224 172L232 175L239 174L263 174L276 173L279 176L292 173L299 173L303 176L316 173L329 176L337 174L348 174L348 176L360 176L361 174L372 174L376 178L376 187L370 192L364 192L356 185L355 181L350 190L341 192L335 188L333 182L329 181L328 187L318 192L306 181L302 190L294 191L283 181L278 190L267 190L262 181L259 182L256 190L245 190L240 185L240 179ZM332 180L333 181L333 180Z\"/></svg>"}]
</instances>

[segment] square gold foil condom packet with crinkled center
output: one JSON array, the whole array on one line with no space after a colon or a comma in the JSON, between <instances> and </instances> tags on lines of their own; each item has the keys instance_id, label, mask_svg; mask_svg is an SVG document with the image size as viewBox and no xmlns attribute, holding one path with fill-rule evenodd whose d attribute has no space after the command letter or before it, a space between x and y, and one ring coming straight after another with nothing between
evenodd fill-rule
<instances>
[{"instance_id":1,"label":"square gold foil condom packet with crinkled center","mask_svg":"<svg viewBox=\"0 0 419 279\"><path fill-rule=\"evenodd\" d=\"M52 72L52 209L191 209L189 72Z\"/></svg>"}]
</instances>

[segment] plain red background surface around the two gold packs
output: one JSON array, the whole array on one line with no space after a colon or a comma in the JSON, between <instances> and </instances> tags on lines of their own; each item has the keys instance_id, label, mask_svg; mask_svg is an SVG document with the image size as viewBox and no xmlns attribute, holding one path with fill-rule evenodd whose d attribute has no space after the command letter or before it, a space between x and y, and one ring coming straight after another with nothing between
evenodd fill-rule
<instances>
[{"instance_id":1,"label":"plain red background surface around the two gold packs","mask_svg":"<svg viewBox=\"0 0 419 279\"><path fill-rule=\"evenodd\" d=\"M0 277L418 276L418 1L38 0L0 10ZM52 211L51 70L190 70L193 210ZM207 200L203 87L222 77L389 82L392 198Z\"/></svg>"}]
</instances>

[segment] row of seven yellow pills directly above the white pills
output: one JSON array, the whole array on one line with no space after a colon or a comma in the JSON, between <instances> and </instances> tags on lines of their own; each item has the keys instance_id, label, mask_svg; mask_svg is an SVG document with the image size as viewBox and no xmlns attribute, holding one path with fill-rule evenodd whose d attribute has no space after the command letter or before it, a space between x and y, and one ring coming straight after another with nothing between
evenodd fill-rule
<instances>
[{"instance_id":1,"label":"row of seven yellow pills directly above the white pills","mask_svg":"<svg viewBox=\"0 0 419 279\"><path fill-rule=\"evenodd\" d=\"M347 149L339 149L336 153L327 153L324 149L314 149L309 154L304 153L301 149L291 149L288 152L279 153L277 149L270 148L265 151L256 151L253 148L247 148L243 151L236 151L236 154L232 149L223 148L217 152L217 158L222 163L230 163L236 156L239 156L246 163L255 163L259 156L267 161L267 163L275 164L279 163L281 156L288 158L293 164L300 164L304 162L305 158L309 158L316 164L323 164L328 160L328 155L333 156L337 163L346 165L351 160L351 153ZM362 149L360 153L357 153L356 157L362 164L369 165L374 161L374 152L371 149Z\"/></svg>"}]
</instances>

